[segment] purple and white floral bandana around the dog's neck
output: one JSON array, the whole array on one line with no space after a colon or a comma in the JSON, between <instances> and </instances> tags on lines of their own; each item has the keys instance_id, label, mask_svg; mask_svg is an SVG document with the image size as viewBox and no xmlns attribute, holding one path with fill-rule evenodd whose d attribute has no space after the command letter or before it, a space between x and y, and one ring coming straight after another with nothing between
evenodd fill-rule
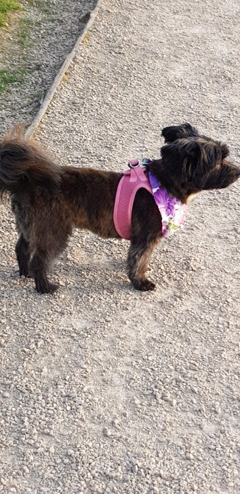
<instances>
[{"instance_id":1,"label":"purple and white floral bandana around the dog's neck","mask_svg":"<svg viewBox=\"0 0 240 494\"><path fill-rule=\"evenodd\" d=\"M142 165L146 166L151 163L144 158ZM171 197L167 190L161 187L158 180L151 172L148 174L152 195L161 214L162 235L167 237L176 230L183 228L187 205L180 202L175 197Z\"/></svg>"}]
</instances>

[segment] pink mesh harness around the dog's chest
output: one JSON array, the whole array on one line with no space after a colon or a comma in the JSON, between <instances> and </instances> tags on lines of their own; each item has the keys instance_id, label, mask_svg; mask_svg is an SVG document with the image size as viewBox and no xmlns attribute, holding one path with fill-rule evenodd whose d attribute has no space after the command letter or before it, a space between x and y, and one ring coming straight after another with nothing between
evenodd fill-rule
<instances>
[{"instance_id":1,"label":"pink mesh harness around the dog's chest","mask_svg":"<svg viewBox=\"0 0 240 494\"><path fill-rule=\"evenodd\" d=\"M146 189L152 195L152 188L144 173L145 168L138 166L137 160L128 163L130 170L123 172L117 187L113 208L113 223L121 238L131 238L131 212L138 189Z\"/></svg>"}]
</instances>

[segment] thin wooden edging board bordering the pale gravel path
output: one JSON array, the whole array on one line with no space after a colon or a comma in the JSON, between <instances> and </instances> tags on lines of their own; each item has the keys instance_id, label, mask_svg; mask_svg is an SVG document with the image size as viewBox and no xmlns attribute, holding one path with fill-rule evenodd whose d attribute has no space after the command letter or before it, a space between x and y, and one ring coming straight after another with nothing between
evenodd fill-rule
<instances>
[{"instance_id":1,"label":"thin wooden edging board bordering the pale gravel path","mask_svg":"<svg viewBox=\"0 0 240 494\"><path fill-rule=\"evenodd\" d=\"M96 5L95 5L93 11L91 11L90 17L89 17L83 31L81 32L81 34L77 38L73 49L67 55L67 57L65 58L60 70L56 74L55 79L54 79L52 85L50 86L50 88L48 89L48 91L47 91L47 93L46 93L46 95L45 95L45 97L44 97L44 99L40 105L40 108L39 108L36 116L34 117L32 123L26 129L25 137L27 139L30 139L33 136L33 134L36 131L38 125L40 124L43 116L45 115L45 112L46 112L46 110L47 110L47 108L48 108L48 106L52 100L52 97L53 97L56 89L58 88L59 84L61 83L61 80L64 77L68 67L70 66L70 64L71 64L71 62L72 62L72 60L73 60L73 58L77 52L78 47L80 46L80 44L84 40L86 34L88 33L89 29L91 28L91 26L92 26L92 24L93 24L93 22L97 16L101 2L102 2L102 0L97 0Z\"/></svg>"}]
</instances>

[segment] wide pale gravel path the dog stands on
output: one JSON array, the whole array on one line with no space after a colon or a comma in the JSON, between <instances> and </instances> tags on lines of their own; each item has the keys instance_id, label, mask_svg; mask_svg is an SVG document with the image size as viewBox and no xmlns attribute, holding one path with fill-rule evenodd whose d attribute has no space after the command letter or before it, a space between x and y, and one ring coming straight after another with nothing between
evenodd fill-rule
<instances>
[{"instance_id":1,"label":"wide pale gravel path the dog stands on","mask_svg":"<svg viewBox=\"0 0 240 494\"><path fill-rule=\"evenodd\" d=\"M237 0L104 0L38 139L62 163L122 170L189 121L239 160ZM155 251L75 232L53 296L19 280L0 222L0 491L237 494L239 184L196 198Z\"/></svg>"}]
</instances>

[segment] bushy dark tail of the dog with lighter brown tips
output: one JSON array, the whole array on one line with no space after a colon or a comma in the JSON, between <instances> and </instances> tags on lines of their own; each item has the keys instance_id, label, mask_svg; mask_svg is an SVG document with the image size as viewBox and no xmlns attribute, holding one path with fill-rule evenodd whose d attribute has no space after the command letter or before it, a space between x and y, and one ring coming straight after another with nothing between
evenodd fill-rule
<instances>
[{"instance_id":1,"label":"bushy dark tail of the dog with lighter brown tips","mask_svg":"<svg viewBox=\"0 0 240 494\"><path fill-rule=\"evenodd\" d=\"M60 167L30 140L24 139L24 126L14 127L0 141L0 197L34 185L53 190L59 180Z\"/></svg>"}]
</instances>

